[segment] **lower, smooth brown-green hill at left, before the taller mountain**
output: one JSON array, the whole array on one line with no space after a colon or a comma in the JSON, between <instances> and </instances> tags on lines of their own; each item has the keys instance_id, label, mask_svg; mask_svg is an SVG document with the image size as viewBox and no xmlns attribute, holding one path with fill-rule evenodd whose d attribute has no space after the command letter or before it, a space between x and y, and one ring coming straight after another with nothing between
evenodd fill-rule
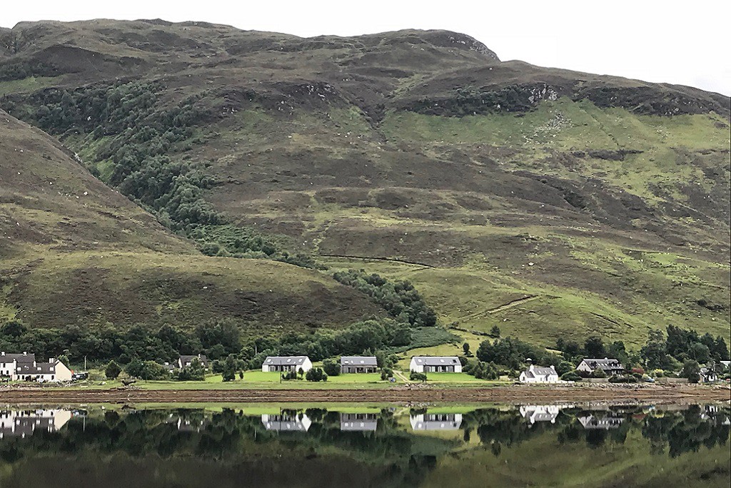
<instances>
[{"instance_id":1,"label":"lower, smooth brown-green hill at left, before the taller mountain","mask_svg":"<svg viewBox=\"0 0 731 488\"><path fill-rule=\"evenodd\" d=\"M227 318L272 334L363 313L380 310L319 272L201 256L57 140L0 110L0 321L192 328Z\"/></svg>"}]
</instances>

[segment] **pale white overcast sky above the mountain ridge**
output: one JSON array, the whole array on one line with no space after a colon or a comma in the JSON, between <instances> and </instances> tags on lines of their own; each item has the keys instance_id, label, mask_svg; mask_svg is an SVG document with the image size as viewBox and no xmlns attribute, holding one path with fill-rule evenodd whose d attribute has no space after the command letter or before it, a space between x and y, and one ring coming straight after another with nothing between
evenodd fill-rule
<instances>
[{"instance_id":1,"label":"pale white overcast sky above the mountain ridge","mask_svg":"<svg viewBox=\"0 0 731 488\"><path fill-rule=\"evenodd\" d=\"M520 59L731 95L728 0L0 1L2 27L22 20L162 18L304 37L444 28L475 37L503 61Z\"/></svg>"}]
</instances>

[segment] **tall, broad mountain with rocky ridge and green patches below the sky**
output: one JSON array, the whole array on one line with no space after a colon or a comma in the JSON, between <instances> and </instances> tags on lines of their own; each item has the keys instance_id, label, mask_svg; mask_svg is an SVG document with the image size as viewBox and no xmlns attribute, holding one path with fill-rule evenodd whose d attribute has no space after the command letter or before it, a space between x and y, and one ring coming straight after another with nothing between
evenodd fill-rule
<instances>
[{"instance_id":1,"label":"tall, broad mountain with rocky ridge and green patches below the sky","mask_svg":"<svg viewBox=\"0 0 731 488\"><path fill-rule=\"evenodd\" d=\"M545 346L729 338L726 96L449 31L93 20L0 31L0 107L209 254L251 252L211 229L275 235L408 278L443 324Z\"/></svg>"}]
</instances>

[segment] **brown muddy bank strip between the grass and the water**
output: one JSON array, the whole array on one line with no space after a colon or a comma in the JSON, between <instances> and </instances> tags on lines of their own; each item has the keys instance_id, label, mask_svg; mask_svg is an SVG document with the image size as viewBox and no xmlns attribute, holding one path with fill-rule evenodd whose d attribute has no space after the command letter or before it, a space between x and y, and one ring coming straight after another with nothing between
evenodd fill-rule
<instances>
[{"instance_id":1,"label":"brown muddy bank strip between the grass and the water","mask_svg":"<svg viewBox=\"0 0 731 488\"><path fill-rule=\"evenodd\" d=\"M729 402L726 386L496 386L393 389L0 389L1 403L702 403Z\"/></svg>"}]
</instances>

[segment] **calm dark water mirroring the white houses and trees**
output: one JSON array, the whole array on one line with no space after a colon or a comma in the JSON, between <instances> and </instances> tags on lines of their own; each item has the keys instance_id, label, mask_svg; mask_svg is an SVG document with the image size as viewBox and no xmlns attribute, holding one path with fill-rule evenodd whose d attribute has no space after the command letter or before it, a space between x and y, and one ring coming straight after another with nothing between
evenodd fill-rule
<instances>
[{"instance_id":1,"label":"calm dark water mirroring the white houses and trees","mask_svg":"<svg viewBox=\"0 0 731 488\"><path fill-rule=\"evenodd\" d=\"M731 408L0 405L0 487L729 487Z\"/></svg>"}]
</instances>

